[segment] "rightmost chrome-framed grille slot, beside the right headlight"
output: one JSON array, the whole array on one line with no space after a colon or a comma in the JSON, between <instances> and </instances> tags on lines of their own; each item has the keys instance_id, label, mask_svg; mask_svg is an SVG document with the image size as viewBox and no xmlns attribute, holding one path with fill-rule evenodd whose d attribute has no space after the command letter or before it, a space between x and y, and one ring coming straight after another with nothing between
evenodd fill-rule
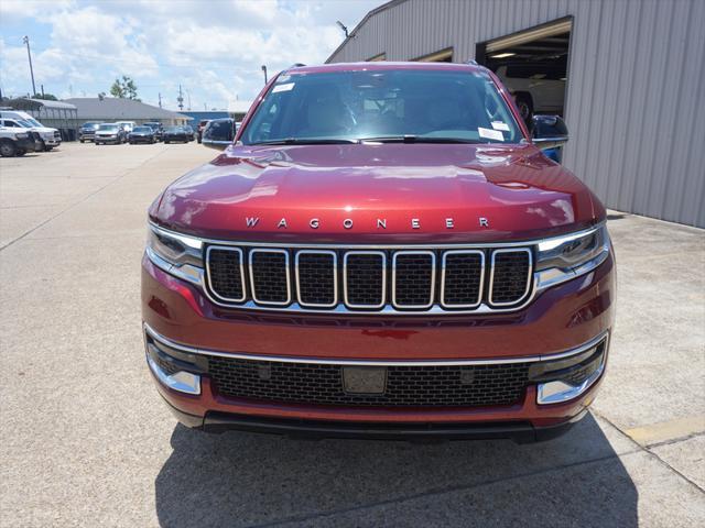
<instances>
[{"instance_id":1,"label":"rightmost chrome-framed grille slot, beside the right headlight","mask_svg":"<svg viewBox=\"0 0 705 528\"><path fill-rule=\"evenodd\" d=\"M531 250L495 250L489 301L492 306L516 305L531 289Z\"/></svg>"}]
</instances>

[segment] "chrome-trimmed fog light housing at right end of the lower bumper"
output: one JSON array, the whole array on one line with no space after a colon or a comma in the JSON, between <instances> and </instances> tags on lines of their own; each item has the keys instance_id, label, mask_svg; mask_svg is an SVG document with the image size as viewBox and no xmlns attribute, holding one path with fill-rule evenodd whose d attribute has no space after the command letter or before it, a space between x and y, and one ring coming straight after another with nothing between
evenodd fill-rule
<instances>
[{"instance_id":1,"label":"chrome-trimmed fog light housing at right end of the lower bumper","mask_svg":"<svg viewBox=\"0 0 705 528\"><path fill-rule=\"evenodd\" d=\"M607 337L575 355L540 362L530 371L536 384L539 405L561 404L579 397L603 375L607 353Z\"/></svg>"}]
</instances>

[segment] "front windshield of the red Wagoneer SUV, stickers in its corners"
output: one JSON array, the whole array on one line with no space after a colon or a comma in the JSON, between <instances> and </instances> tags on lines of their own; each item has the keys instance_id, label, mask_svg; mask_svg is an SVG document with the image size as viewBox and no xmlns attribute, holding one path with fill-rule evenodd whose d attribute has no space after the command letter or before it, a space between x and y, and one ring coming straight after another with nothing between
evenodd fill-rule
<instances>
[{"instance_id":1,"label":"front windshield of the red Wagoneer SUV, stickers in its corners","mask_svg":"<svg viewBox=\"0 0 705 528\"><path fill-rule=\"evenodd\" d=\"M282 75L240 138L245 144L521 139L486 72L404 69Z\"/></svg>"}]
</instances>

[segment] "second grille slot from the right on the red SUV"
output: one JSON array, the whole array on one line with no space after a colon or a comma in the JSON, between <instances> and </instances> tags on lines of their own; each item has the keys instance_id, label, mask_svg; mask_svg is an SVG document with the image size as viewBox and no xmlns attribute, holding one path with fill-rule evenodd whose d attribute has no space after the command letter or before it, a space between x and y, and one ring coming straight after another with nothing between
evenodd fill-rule
<instances>
[{"instance_id":1,"label":"second grille slot from the right on the red SUV","mask_svg":"<svg viewBox=\"0 0 705 528\"><path fill-rule=\"evenodd\" d=\"M443 254L441 305L474 308L482 301L485 253L479 250L446 251Z\"/></svg>"}]
</instances>

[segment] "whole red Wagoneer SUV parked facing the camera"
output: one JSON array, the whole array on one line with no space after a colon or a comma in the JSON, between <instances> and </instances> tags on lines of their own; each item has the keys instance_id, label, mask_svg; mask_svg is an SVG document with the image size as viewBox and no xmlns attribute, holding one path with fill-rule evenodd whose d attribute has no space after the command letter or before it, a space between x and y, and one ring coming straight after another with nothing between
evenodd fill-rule
<instances>
[{"instance_id":1,"label":"whole red Wagoneer SUV parked facing the camera","mask_svg":"<svg viewBox=\"0 0 705 528\"><path fill-rule=\"evenodd\" d=\"M551 438L605 372L605 208L477 65L299 66L149 210L147 362L209 431Z\"/></svg>"}]
</instances>

